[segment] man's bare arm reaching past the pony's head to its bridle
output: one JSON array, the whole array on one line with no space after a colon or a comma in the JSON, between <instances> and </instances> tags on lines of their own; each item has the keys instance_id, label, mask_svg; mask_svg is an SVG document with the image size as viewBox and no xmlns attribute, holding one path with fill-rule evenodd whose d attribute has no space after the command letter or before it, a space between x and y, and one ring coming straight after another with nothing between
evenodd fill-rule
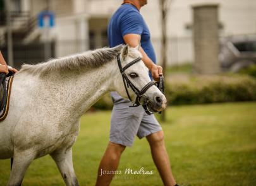
<instances>
[{"instance_id":1,"label":"man's bare arm reaching past the pony's head to its bridle","mask_svg":"<svg viewBox=\"0 0 256 186\"><path fill-rule=\"evenodd\" d=\"M131 47L137 47L140 44L140 35L138 34L130 33L125 35L123 39L125 40L125 43ZM140 53L142 53L142 61L144 62L145 66L148 67L149 71L151 71L152 77L158 81L159 75L162 75L162 67L154 64L142 47L140 47Z\"/></svg>"}]
</instances>

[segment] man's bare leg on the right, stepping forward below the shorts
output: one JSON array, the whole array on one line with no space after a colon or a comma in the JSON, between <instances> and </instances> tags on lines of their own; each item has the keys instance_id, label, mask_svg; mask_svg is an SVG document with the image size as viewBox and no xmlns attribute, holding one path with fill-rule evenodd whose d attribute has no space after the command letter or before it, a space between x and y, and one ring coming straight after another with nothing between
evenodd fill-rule
<instances>
[{"instance_id":1,"label":"man's bare leg on the right, stepping forward below the shorts","mask_svg":"<svg viewBox=\"0 0 256 186\"><path fill-rule=\"evenodd\" d=\"M164 144L164 132L159 131L150 134L147 136L147 141L149 142L152 158L161 175L162 182L165 186L175 185L176 181L174 180L173 173L171 172L169 156Z\"/></svg>"}]
</instances>

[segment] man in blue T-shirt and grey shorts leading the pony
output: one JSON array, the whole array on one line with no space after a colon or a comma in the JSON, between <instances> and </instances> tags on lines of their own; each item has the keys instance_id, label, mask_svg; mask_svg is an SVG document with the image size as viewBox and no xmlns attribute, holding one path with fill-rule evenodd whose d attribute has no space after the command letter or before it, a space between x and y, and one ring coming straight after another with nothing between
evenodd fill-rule
<instances>
[{"instance_id":1,"label":"man in blue T-shirt and grey shorts leading the pony","mask_svg":"<svg viewBox=\"0 0 256 186\"><path fill-rule=\"evenodd\" d=\"M142 61L149 68L150 78L158 80L159 75L162 75L162 67L155 64L155 52L150 41L149 28L140 15L140 8L145 4L147 0L123 1L109 23L109 45L115 47L119 44L128 44L131 47L137 47L141 44ZM164 144L164 133L154 115L147 115L142 106L130 108L131 102L123 99L116 92L112 92L111 96L114 107L109 144L99 165L96 185L103 186L111 183L114 175L102 175L102 171L117 170L121 154L126 146L133 144L136 135L140 139L147 138L152 158L164 185L177 185L171 172Z\"/></svg>"}]
</instances>

